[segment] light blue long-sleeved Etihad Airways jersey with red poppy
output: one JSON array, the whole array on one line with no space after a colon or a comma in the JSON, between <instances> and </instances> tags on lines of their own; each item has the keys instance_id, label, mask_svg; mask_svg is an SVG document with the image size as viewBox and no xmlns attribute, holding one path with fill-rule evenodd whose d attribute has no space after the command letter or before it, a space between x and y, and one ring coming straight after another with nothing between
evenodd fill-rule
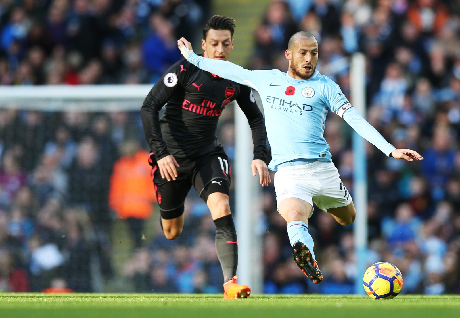
<instances>
[{"instance_id":1,"label":"light blue long-sleeved Etihad Airways jersey with red poppy","mask_svg":"<svg viewBox=\"0 0 460 318\"><path fill-rule=\"evenodd\" d=\"M311 78L301 80L291 78L277 69L249 71L229 61L203 58L194 53L190 53L188 61L205 71L247 85L259 92L272 151L272 161L268 166L271 170L276 171L279 164L299 158L332 162L329 145L323 137L326 115L330 109L343 117L345 111L352 106L339 85L327 76L316 70ZM359 114L357 116L361 117ZM353 119L357 126L362 125L360 120L356 120L359 118L354 116ZM373 130L369 135L376 133L379 140L374 142L366 138L369 136L362 136L388 156L395 148L369 123L362 120L368 125L365 128L370 127ZM360 129L352 127L361 134Z\"/></svg>"}]
</instances>

